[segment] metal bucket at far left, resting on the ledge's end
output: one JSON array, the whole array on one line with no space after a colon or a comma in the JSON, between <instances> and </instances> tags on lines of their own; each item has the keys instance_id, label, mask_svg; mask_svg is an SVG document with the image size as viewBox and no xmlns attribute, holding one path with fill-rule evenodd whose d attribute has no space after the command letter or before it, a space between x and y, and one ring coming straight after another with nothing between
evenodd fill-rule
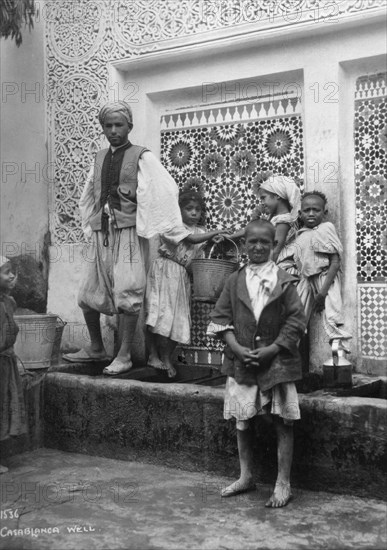
<instances>
[{"instance_id":1,"label":"metal bucket at far left, resting on the ledge's end","mask_svg":"<svg viewBox=\"0 0 387 550\"><path fill-rule=\"evenodd\" d=\"M48 369L55 342L57 315L15 315L19 327L14 345L26 369Z\"/></svg>"}]
</instances>

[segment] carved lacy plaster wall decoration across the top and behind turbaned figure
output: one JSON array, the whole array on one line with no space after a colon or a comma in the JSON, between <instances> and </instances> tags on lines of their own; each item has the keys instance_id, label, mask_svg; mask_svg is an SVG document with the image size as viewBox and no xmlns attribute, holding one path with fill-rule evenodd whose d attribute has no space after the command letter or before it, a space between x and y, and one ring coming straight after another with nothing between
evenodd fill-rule
<instances>
[{"instance_id":1,"label":"carved lacy plaster wall decoration across the top and behind turbaned figure","mask_svg":"<svg viewBox=\"0 0 387 550\"><path fill-rule=\"evenodd\" d=\"M55 166L50 227L54 242L77 243L83 240L77 202L101 144L97 114L109 95L109 64L225 36L372 16L384 0L47 0L43 8L49 161Z\"/></svg>"}]
</instances>

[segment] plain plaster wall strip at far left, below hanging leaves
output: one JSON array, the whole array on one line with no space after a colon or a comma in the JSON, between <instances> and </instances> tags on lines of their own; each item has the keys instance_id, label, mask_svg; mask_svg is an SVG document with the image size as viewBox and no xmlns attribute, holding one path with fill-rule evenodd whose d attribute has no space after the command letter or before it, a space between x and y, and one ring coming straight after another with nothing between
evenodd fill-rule
<instances>
[{"instance_id":1,"label":"plain plaster wall strip at far left, below hanging leaves","mask_svg":"<svg viewBox=\"0 0 387 550\"><path fill-rule=\"evenodd\" d=\"M1 39L2 254L41 259L48 230L45 58L43 22L23 31L18 48Z\"/></svg>"}]
</instances>

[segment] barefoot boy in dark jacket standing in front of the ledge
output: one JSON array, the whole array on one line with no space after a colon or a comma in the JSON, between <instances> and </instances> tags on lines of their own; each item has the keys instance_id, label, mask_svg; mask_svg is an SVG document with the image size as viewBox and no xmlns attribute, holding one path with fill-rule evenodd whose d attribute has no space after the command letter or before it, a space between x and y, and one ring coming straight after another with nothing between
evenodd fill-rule
<instances>
[{"instance_id":1,"label":"barefoot boy in dark jacket standing in front of the ledge","mask_svg":"<svg viewBox=\"0 0 387 550\"><path fill-rule=\"evenodd\" d=\"M209 334L227 344L222 372L228 375L224 418L236 419L241 475L223 497L255 489L250 420L272 419L277 433L278 475L267 507L285 506L291 498L293 421L300 418L294 382L302 376L298 340L305 330L295 278L270 256L275 228L254 220L245 230L247 266L226 282L211 314Z\"/></svg>"}]
</instances>

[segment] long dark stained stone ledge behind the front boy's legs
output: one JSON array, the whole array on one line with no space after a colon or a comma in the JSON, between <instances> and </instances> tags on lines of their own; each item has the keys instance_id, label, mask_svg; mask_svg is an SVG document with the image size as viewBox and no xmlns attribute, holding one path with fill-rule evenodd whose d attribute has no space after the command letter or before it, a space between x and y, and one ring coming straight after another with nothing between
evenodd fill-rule
<instances>
[{"instance_id":1,"label":"long dark stained stone ledge behind the front boy's legs","mask_svg":"<svg viewBox=\"0 0 387 550\"><path fill-rule=\"evenodd\" d=\"M235 425L221 388L66 373L45 380L46 447L194 471L239 474ZM385 498L385 400L300 395L293 480L299 487ZM275 479L273 431L257 419L257 479Z\"/></svg>"}]
</instances>

